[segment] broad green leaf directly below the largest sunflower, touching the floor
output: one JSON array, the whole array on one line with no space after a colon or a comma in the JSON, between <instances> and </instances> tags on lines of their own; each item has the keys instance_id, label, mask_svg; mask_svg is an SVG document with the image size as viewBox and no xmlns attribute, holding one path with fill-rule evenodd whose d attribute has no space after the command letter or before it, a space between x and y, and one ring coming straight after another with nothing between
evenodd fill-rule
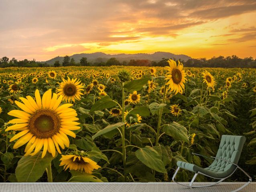
<instances>
[{"instance_id":1,"label":"broad green leaf directly below the largest sunflower, touching the floor","mask_svg":"<svg viewBox=\"0 0 256 192\"><path fill-rule=\"evenodd\" d=\"M54 157L47 153L44 158L41 158L42 152L35 156L23 156L19 161L15 170L18 182L36 182L47 166L51 164Z\"/></svg>"}]
</instances>

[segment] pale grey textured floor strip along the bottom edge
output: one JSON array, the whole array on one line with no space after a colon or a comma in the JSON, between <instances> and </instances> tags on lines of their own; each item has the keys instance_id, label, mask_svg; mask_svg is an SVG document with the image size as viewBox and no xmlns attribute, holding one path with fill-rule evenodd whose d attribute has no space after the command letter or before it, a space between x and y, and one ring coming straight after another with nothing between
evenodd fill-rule
<instances>
[{"instance_id":1,"label":"pale grey textured floor strip along the bottom edge","mask_svg":"<svg viewBox=\"0 0 256 192\"><path fill-rule=\"evenodd\" d=\"M183 183L189 184L189 183ZM210 183L194 183L207 185ZM0 183L0 192L231 192L244 182L222 182L207 188L189 189L173 182L162 183ZM252 182L241 192L256 192Z\"/></svg>"}]
</instances>

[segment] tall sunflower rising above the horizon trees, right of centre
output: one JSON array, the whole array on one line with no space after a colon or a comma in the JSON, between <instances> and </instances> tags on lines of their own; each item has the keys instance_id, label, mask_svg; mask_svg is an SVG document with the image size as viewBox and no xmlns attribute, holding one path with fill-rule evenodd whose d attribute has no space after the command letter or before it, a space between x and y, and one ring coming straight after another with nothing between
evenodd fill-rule
<instances>
[{"instance_id":1,"label":"tall sunflower rising above the horizon trees, right of centre","mask_svg":"<svg viewBox=\"0 0 256 192\"><path fill-rule=\"evenodd\" d=\"M184 83L186 82L186 73L183 70L183 64L178 61L178 65L174 60L168 60L168 63L170 66L165 67L168 72L166 74L165 80L168 80L166 83L169 85L169 89L171 92L177 93L183 93L183 90L185 88Z\"/></svg>"}]
</instances>

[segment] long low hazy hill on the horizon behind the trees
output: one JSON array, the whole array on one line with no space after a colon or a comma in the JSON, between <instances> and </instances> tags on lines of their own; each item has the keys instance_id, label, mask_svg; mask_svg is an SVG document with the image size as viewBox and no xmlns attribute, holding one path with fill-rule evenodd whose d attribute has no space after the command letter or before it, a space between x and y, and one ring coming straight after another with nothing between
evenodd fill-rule
<instances>
[{"instance_id":1,"label":"long low hazy hill on the horizon behind the trees","mask_svg":"<svg viewBox=\"0 0 256 192\"><path fill-rule=\"evenodd\" d=\"M95 52L95 53L81 53L81 54L74 54L70 56L70 58L74 58L75 62L80 62L80 59L82 57L86 57L88 62L96 62L96 61L103 61L106 62L108 59L114 57L120 62L127 61L129 62L131 59L137 60L137 59L148 59L150 61L160 61L162 58L175 58L175 59L181 59L184 61L187 61L191 59L191 57L183 54L173 54L169 52L155 52L153 54L146 54L146 53L138 53L138 54L105 54L102 52ZM47 64L54 64L55 61L63 62L64 57L57 56L55 58L52 58L47 62Z\"/></svg>"}]
</instances>

